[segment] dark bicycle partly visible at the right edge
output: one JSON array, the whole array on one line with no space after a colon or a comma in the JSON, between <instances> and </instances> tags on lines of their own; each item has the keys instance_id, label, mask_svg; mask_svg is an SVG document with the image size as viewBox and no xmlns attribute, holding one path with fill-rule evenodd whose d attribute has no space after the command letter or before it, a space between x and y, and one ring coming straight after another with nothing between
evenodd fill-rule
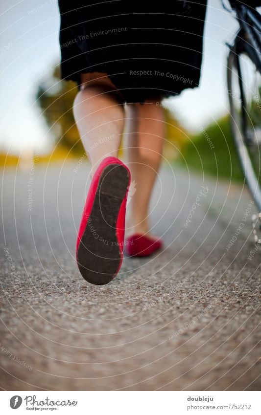
<instances>
[{"instance_id":1,"label":"dark bicycle partly visible at the right edge","mask_svg":"<svg viewBox=\"0 0 261 415\"><path fill-rule=\"evenodd\" d=\"M239 24L233 44L227 44L227 89L230 121L238 159L250 193L259 209L252 217L254 240L261 245L257 223L261 230L261 15L250 5L229 0Z\"/></svg>"}]
</instances>

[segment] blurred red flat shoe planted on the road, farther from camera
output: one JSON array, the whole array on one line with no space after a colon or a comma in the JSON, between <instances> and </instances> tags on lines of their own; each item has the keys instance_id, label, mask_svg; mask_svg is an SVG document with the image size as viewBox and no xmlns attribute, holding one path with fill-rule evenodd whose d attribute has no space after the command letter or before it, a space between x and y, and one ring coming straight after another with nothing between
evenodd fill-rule
<instances>
[{"instance_id":1,"label":"blurred red flat shoe planted on the road, farther from camera","mask_svg":"<svg viewBox=\"0 0 261 415\"><path fill-rule=\"evenodd\" d=\"M134 234L126 240L127 253L132 257L148 257L162 246L162 240L154 240L141 234Z\"/></svg>"}]
</instances>

